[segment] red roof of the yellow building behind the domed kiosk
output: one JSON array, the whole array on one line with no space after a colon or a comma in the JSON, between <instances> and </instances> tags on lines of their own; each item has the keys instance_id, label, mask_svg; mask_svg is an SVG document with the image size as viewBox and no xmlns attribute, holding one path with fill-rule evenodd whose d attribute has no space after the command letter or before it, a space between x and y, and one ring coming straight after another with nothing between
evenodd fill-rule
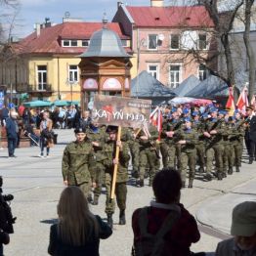
<instances>
[{"instance_id":1,"label":"red roof of the yellow building behind the domed kiosk","mask_svg":"<svg viewBox=\"0 0 256 256\"><path fill-rule=\"evenodd\" d=\"M121 39L129 39L124 35L118 23L107 23L107 27L115 31ZM81 54L85 47L62 47L62 39L90 39L92 34L103 28L102 22L64 22L41 28L40 35L31 33L13 45L19 54Z\"/></svg>"}]
</instances>

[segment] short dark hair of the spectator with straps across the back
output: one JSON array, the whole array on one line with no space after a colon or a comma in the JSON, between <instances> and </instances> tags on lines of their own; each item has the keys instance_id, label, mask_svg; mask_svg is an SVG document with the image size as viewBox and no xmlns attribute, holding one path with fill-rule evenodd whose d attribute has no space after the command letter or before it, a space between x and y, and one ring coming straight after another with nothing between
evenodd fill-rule
<instances>
[{"instance_id":1,"label":"short dark hair of the spectator with straps across the back","mask_svg":"<svg viewBox=\"0 0 256 256\"><path fill-rule=\"evenodd\" d=\"M157 202L178 202L182 189L181 175L174 168L163 168L152 181L152 190Z\"/></svg>"}]
</instances>

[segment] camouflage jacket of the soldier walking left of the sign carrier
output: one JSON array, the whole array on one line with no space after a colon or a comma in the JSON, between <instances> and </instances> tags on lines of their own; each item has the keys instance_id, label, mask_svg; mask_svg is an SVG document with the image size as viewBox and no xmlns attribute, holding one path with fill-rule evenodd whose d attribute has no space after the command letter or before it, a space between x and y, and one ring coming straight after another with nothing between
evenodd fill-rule
<instances>
[{"instance_id":1,"label":"camouflage jacket of the soldier walking left of the sign carrier","mask_svg":"<svg viewBox=\"0 0 256 256\"><path fill-rule=\"evenodd\" d=\"M82 144L72 142L64 149L63 177L68 185L90 182L89 164L93 161L93 147L86 139Z\"/></svg>"}]
</instances>

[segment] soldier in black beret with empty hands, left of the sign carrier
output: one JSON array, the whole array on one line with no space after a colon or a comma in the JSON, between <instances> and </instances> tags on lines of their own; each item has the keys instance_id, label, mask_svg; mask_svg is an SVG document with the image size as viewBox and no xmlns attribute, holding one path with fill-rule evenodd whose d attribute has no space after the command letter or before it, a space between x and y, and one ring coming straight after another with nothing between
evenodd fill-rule
<instances>
[{"instance_id":1,"label":"soldier in black beret with empty hands, left of the sign carrier","mask_svg":"<svg viewBox=\"0 0 256 256\"><path fill-rule=\"evenodd\" d=\"M64 185L79 187L88 198L92 187L89 165L94 162L94 150L84 128L76 128L74 134L76 140L64 149L62 163Z\"/></svg>"}]
</instances>

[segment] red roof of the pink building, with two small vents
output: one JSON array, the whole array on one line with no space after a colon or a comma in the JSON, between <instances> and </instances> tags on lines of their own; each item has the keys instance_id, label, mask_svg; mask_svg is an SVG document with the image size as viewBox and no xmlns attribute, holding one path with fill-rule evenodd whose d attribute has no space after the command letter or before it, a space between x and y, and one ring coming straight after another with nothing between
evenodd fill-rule
<instances>
[{"instance_id":1,"label":"red roof of the pink building, with two small vents","mask_svg":"<svg viewBox=\"0 0 256 256\"><path fill-rule=\"evenodd\" d=\"M137 26L145 27L213 27L203 6L126 7Z\"/></svg>"}]
</instances>

